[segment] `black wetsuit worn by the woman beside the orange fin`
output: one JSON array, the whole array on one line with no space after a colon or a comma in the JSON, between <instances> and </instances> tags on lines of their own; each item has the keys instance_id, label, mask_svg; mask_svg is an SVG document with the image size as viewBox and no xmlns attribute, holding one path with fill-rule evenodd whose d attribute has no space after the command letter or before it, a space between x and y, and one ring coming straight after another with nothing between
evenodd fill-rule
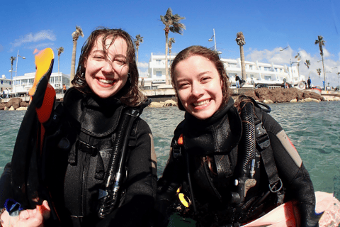
<instances>
[{"instance_id":1,"label":"black wetsuit worn by the woman beside the orange fin","mask_svg":"<svg viewBox=\"0 0 340 227\"><path fill-rule=\"evenodd\" d=\"M120 206L106 218L97 216L98 189L126 108L115 97L98 99L77 89L68 89L62 106L57 107L58 122L46 131L49 150L46 184L62 226L149 226L157 163L152 133L139 117L130 133ZM10 174L8 167L4 175ZM45 226L49 226L48 221Z\"/></svg>"}]
</instances>

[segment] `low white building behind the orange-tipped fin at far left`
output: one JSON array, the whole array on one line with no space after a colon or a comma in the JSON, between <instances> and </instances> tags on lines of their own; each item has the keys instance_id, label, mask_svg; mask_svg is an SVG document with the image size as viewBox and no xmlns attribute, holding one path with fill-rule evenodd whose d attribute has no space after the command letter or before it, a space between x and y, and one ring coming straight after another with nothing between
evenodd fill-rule
<instances>
[{"instance_id":1,"label":"low white building behind the orange-tipped fin at far left","mask_svg":"<svg viewBox=\"0 0 340 227\"><path fill-rule=\"evenodd\" d=\"M27 95L28 91L33 87L35 72L25 73L23 76L13 78L12 96ZM57 93L62 92L62 84L69 88L69 75L60 72L52 72L49 83L55 88Z\"/></svg>"}]
</instances>

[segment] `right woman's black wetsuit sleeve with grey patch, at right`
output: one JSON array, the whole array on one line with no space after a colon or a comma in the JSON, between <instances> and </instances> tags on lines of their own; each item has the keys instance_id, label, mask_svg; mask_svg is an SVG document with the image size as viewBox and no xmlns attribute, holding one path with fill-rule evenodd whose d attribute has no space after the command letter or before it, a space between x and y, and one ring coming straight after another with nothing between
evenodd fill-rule
<instances>
[{"instance_id":1,"label":"right woman's black wetsuit sleeve with grey patch, at right","mask_svg":"<svg viewBox=\"0 0 340 227\"><path fill-rule=\"evenodd\" d=\"M301 226L314 226L315 194L310 175L300 155L283 128L269 114L262 112L262 122L269 135L278 175L286 189L286 198L298 202Z\"/></svg>"}]
</instances>

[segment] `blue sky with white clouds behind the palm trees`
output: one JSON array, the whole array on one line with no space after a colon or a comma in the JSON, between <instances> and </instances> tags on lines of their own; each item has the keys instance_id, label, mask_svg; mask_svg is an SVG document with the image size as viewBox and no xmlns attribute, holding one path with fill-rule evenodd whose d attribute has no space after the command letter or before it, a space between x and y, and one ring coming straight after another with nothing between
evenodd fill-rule
<instances>
[{"instance_id":1,"label":"blue sky with white clouds behind the palm trees","mask_svg":"<svg viewBox=\"0 0 340 227\"><path fill-rule=\"evenodd\" d=\"M297 52L302 62L310 60L307 70L300 65L300 74L312 78L312 84L322 85L317 68L322 68L319 47L314 45L317 35L326 40L324 47L327 82L339 84L340 72L340 1L2 1L0 9L0 75L11 77L10 57L19 55L18 75L35 72L35 48L52 48L55 51L53 72L58 72L57 50L64 47L60 56L60 72L69 74L72 57L72 33L81 26L84 38L79 38L77 62L81 46L97 26L123 28L135 38L144 37L140 45L139 68L142 76L147 72L151 52L165 53L164 25L160 15L168 8L186 19L183 35L174 37L172 52L190 45L213 47L208 42L215 28L217 50L223 58L237 59L239 46L235 42L239 31L244 33L246 60L274 62L289 65L290 55ZM280 52L281 48L287 48ZM16 62L13 65L15 71ZM76 63L77 67L77 63ZM331 69L332 67L338 67ZM13 73L14 77L15 73Z\"/></svg>"}]
</instances>

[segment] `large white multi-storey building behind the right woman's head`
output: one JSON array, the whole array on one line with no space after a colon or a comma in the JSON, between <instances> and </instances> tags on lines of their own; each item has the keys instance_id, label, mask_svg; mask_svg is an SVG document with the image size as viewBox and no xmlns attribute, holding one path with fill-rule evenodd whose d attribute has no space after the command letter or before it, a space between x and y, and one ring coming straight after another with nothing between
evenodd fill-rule
<instances>
[{"instance_id":1,"label":"large white multi-storey building behind the right woman's head","mask_svg":"<svg viewBox=\"0 0 340 227\"><path fill-rule=\"evenodd\" d=\"M168 58L168 66L170 69L171 62L174 60L176 55L171 55ZM241 60L238 58L234 59L221 59L225 62L225 70L227 71L228 77L232 84L235 84L235 75L238 74L242 77ZM287 65L274 65L273 63L261 63L261 62L249 62L245 61L246 65L246 84L257 85L257 84L283 84L285 79L286 82L296 85L298 82L305 81L305 76L300 75L297 72L297 67L287 66ZM165 55L153 55L149 60L149 78L145 79L145 87L147 85L147 80L149 83L164 83L165 84ZM293 76L292 76L293 75Z\"/></svg>"}]
</instances>

